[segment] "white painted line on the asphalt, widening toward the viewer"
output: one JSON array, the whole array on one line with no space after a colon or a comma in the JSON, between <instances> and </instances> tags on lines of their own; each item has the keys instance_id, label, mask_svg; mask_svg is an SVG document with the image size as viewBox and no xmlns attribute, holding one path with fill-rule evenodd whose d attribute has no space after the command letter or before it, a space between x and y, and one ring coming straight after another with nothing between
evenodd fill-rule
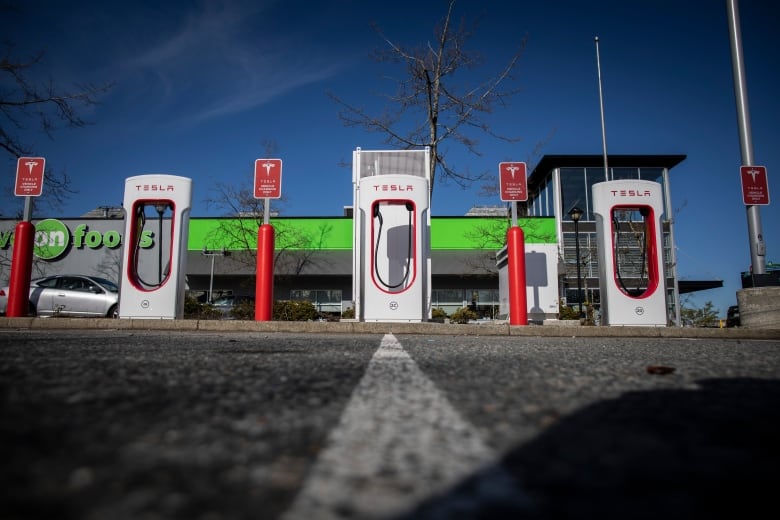
<instances>
[{"instance_id":1,"label":"white painted line on the asphalt, widening toward the viewer","mask_svg":"<svg viewBox=\"0 0 780 520\"><path fill-rule=\"evenodd\" d=\"M283 518L383 518L498 459L392 334Z\"/></svg>"}]
</instances>

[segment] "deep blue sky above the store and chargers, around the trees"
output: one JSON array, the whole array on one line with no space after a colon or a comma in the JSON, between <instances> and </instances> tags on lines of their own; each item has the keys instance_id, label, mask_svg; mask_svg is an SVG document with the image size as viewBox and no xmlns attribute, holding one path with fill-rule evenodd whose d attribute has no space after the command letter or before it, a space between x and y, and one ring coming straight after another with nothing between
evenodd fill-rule
<instances>
[{"instance_id":1,"label":"deep blue sky above the store and chargers, around the trees","mask_svg":"<svg viewBox=\"0 0 780 520\"><path fill-rule=\"evenodd\" d=\"M101 104L82 111L93 124L62 129L50 140L27 134L47 165L73 178L78 193L61 217L119 205L124 179L169 173L193 179L193 216L212 216L205 200L218 182L251 182L253 163L274 141L284 162L279 206L290 216L334 216L352 202L352 151L382 149L381 138L346 128L327 93L352 105L382 108L379 94L399 71L369 58L383 48L378 24L393 41L427 42L444 1L334 0L18 2L0 33L17 55L45 50L40 77L60 88L115 82ZM761 208L767 260L780 262L777 198L780 170L780 4L739 6L755 162L767 167L770 194ZM610 154L685 154L671 172L678 274L722 279L692 303L736 303L740 271L750 264L747 217L725 0L504 2L460 0L455 16L480 18L470 50L492 76L528 38L516 69L522 92L489 122L508 144L483 136L481 157L454 145L459 168L496 172L502 161L541 154L600 154L601 125L594 36L600 38L607 147ZM5 164L6 183L15 162ZM478 186L438 184L435 216L497 205ZM36 217L39 215L35 215ZM44 216L44 215L40 215ZM52 215L45 215L52 216Z\"/></svg>"}]
</instances>

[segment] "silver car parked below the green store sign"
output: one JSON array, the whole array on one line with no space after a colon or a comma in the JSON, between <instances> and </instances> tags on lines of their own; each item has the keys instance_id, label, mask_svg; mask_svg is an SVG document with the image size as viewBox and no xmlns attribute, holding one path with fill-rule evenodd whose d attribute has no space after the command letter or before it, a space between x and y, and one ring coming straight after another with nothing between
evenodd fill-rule
<instances>
[{"instance_id":1,"label":"silver car parked below the green store sign","mask_svg":"<svg viewBox=\"0 0 780 520\"><path fill-rule=\"evenodd\" d=\"M8 287L0 289L0 314L8 306ZM30 316L119 316L119 287L95 276L58 274L30 282Z\"/></svg>"}]
</instances>

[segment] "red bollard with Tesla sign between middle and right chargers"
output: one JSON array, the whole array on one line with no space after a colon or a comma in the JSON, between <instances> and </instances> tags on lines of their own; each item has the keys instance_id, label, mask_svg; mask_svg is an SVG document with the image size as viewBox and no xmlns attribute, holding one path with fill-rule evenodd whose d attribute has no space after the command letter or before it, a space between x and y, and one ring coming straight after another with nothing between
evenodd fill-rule
<instances>
[{"instance_id":1,"label":"red bollard with Tesla sign between middle and right chargers","mask_svg":"<svg viewBox=\"0 0 780 520\"><path fill-rule=\"evenodd\" d=\"M525 236L517 225L517 202L528 200L526 166L522 162L498 164L501 200L512 203L512 227L507 231L509 269L509 324L528 325L525 276Z\"/></svg>"}]
</instances>

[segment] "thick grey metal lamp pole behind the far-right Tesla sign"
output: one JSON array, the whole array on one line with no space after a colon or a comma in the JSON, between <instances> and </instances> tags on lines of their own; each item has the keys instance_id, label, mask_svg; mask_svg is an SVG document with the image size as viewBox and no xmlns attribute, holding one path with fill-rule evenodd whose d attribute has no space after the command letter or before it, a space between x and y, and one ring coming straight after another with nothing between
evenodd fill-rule
<instances>
[{"instance_id":1,"label":"thick grey metal lamp pole behind the far-right Tesla sign","mask_svg":"<svg viewBox=\"0 0 780 520\"><path fill-rule=\"evenodd\" d=\"M745 64L742 59L742 35L739 24L739 6L737 0L726 0L729 22L729 40L731 41L731 65L734 75L734 95L737 102L737 122L739 124L739 145L742 152L742 165L753 164L753 139L750 132L750 110L748 109L747 86L745 82ZM761 232L760 206L747 206L748 240L750 243L750 265L753 274L765 274L766 245Z\"/></svg>"}]
</instances>

